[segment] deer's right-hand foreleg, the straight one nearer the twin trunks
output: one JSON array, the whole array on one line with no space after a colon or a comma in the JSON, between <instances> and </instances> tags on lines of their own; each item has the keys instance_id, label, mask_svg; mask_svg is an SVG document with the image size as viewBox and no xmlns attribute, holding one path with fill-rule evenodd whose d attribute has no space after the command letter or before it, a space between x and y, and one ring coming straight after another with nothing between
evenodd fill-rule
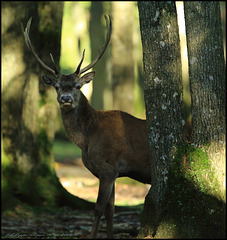
<instances>
[{"instance_id":1,"label":"deer's right-hand foreleg, the straight one nearer the twin trunks","mask_svg":"<svg viewBox=\"0 0 227 240\"><path fill-rule=\"evenodd\" d=\"M107 202L105 213L104 213L106 217L106 224L107 224L107 238L109 239L113 239L114 194L115 194L115 189L113 184L112 192Z\"/></svg>"}]
</instances>

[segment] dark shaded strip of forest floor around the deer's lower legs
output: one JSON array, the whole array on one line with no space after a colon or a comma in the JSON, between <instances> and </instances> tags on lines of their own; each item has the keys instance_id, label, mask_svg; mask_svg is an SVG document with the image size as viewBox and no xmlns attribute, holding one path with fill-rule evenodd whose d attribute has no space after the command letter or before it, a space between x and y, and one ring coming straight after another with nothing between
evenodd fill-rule
<instances>
[{"instance_id":1,"label":"dark shaded strip of forest floor around the deer's lower legs","mask_svg":"<svg viewBox=\"0 0 227 240\"><path fill-rule=\"evenodd\" d=\"M2 239L87 239L91 232L93 211L72 210L64 207L58 212L8 212L2 216ZM136 239L140 211L114 214L114 238ZM97 238L106 238L106 223L101 219Z\"/></svg>"}]
</instances>

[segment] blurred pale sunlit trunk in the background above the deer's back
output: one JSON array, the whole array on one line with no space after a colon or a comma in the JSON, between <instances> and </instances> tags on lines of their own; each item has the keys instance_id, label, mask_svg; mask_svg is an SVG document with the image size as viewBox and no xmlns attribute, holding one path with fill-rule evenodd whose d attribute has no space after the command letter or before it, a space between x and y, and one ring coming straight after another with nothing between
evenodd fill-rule
<instances>
[{"instance_id":1,"label":"blurred pale sunlit trunk in the background above the deer's back","mask_svg":"<svg viewBox=\"0 0 227 240\"><path fill-rule=\"evenodd\" d=\"M134 114L133 2L113 2L113 107Z\"/></svg>"}]
</instances>

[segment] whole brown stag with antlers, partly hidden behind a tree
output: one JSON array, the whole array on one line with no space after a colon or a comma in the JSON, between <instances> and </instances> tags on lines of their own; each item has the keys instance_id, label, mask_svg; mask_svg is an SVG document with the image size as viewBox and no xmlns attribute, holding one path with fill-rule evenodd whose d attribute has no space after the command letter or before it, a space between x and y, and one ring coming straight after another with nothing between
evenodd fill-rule
<instances>
[{"instance_id":1,"label":"whole brown stag with antlers, partly hidden behind a tree","mask_svg":"<svg viewBox=\"0 0 227 240\"><path fill-rule=\"evenodd\" d=\"M43 76L43 81L55 87L57 91L57 101L68 138L81 148L84 165L99 179L91 238L97 235L103 213L107 221L107 237L113 237L116 178L127 176L143 183L151 182L146 121L122 111L96 111L80 90L95 76L95 71L85 72L99 61L110 41L111 18L105 16L105 19L107 37L98 56L88 66L80 69L84 59L83 51L76 71L69 75L58 71L51 54L54 70L46 66L35 53L29 38L31 19L25 30L23 29L28 49L40 65L50 73L49 76ZM82 75L83 73L85 74Z\"/></svg>"}]
</instances>

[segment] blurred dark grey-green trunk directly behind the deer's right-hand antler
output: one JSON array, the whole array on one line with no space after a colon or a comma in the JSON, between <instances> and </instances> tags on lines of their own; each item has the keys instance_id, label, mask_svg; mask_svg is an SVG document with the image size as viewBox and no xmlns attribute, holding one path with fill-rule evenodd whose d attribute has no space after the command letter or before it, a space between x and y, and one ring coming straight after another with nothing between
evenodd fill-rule
<instances>
[{"instance_id":1,"label":"blurred dark grey-green trunk directly behind the deer's right-hand antler","mask_svg":"<svg viewBox=\"0 0 227 240\"><path fill-rule=\"evenodd\" d=\"M109 4L110 5L110 4ZM90 8L90 24L89 32L91 39L91 59L95 59L98 55L102 44L105 42L106 26L104 15L109 13L106 11L106 4L101 1L91 2ZM111 88L111 47L109 46L105 54L100 59L99 63L94 67L96 70L95 82L93 82L93 92L91 98L91 105L97 110L103 110L112 107L112 93ZM107 98L106 92L109 93ZM108 107L107 107L108 106Z\"/></svg>"}]
</instances>

